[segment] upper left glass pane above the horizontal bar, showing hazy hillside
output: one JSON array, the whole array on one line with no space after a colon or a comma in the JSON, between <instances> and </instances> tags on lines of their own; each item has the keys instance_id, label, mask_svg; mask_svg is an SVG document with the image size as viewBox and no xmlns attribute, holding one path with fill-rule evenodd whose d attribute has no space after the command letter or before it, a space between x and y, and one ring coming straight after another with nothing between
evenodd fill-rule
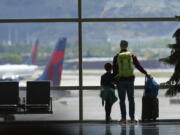
<instances>
[{"instance_id":1,"label":"upper left glass pane above the horizontal bar, showing hazy hillside","mask_svg":"<svg viewBox=\"0 0 180 135\"><path fill-rule=\"evenodd\" d=\"M1 0L0 18L76 18L77 0Z\"/></svg>"}]
</instances>

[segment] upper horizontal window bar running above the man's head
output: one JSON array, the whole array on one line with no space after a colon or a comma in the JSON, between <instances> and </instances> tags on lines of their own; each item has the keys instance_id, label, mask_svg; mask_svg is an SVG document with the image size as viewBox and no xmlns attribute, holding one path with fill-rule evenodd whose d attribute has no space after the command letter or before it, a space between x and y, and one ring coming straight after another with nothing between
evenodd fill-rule
<instances>
[{"instance_id":1,"label":"upper horizontal window bar running above the man's head","mask_svg":"<svg viewBox=\"0 0 180 135\"><path fill-rule=\"evenodd\" d=\"M78 8L79 9L79 8ZM78 11L79 12L79 11ZM81 13L80 13L81 14ZM0 23L56 23L56 22L156 22L179 21L176 17L151 18L41 18L41 19L0 19Z\"/></svg>"}]
</instances>

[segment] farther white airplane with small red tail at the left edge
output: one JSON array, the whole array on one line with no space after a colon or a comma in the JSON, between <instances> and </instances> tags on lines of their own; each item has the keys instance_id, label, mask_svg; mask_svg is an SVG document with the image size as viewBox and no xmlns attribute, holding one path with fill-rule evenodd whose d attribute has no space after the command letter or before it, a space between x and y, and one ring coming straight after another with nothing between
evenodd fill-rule
<instances>
[{"instance_id":1,"label":"farther white airplane with small red tail at the left edge","mask_svg":"<svg viewBox=\"0 0 180 135\"><path fill-rule=\"evenodd\" d=\"M38 68L37 62L38 40L32 49L31 57L25 64L5 64L0 65L1 81L19 81L25 77L32 76L32 73Z\"/></svg>"}]
</instances>

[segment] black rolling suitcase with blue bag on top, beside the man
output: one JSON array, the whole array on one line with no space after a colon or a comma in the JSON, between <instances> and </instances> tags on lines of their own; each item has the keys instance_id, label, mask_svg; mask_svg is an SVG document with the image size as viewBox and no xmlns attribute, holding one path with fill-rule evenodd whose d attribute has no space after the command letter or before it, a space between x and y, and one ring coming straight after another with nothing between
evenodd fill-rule
<instances>
[{"instance_id":1,"label":"black rolling suitcase with blue bag on top, beside the man","mask_svg":"<svg viewBox=\"0 0 180 135\"><path fill-rule=\"evenodd\" d=\"M156 120L159 117L159 85L152 77L145 78L145 90L142 98L142 121Z\"/></svg>"}]
</instances>

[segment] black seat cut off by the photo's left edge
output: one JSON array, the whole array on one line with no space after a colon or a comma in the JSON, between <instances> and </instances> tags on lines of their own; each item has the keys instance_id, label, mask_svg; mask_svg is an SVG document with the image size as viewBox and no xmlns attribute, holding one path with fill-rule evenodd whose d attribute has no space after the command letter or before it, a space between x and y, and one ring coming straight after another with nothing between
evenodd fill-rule
<instances>
[{"instance_id":1,"label":"black seat cut off by the photo's left edge","mask_svg":"<svg viewBox=\"0 0 180 135\"><path fill-rule=\"evenodd\" d=\"M16 113L19 102L19 83L0 82L0 113Z\"/></svg>"}]
</instances>

